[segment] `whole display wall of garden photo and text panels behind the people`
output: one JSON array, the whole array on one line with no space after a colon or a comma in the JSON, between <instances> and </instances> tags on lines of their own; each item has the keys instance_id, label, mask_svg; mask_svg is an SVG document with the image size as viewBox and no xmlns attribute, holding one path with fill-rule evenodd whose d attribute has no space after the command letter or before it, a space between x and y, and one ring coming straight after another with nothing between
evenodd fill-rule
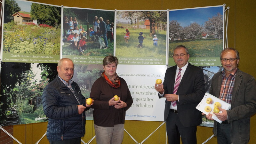
<instances>
[{"instance_id":1,"label":"whole display wall of garden photo and text panels behind the people","mask_svg":"<svg viewBox=\"0 0 256 144\"><path fill-rule=\"evenodd\" d=\"M158 98L154 85L156 79L164 80L167 64L175 65L172 54L177 45L187 46L189 62L204 70L207 90L213 74L222 69L222 6L111 11L5 0L2 25L2 125L47 121L41 93L57 75L62 57L73 60L72 80L88 98L103 72L104 57L116 56L116 72L133 98L126 120L164 121L165 98ZM93 119L92 111L86 111L87 120ZM212 126L212 121L203 120L203 126Z\"/></svg>"}]
</instances>

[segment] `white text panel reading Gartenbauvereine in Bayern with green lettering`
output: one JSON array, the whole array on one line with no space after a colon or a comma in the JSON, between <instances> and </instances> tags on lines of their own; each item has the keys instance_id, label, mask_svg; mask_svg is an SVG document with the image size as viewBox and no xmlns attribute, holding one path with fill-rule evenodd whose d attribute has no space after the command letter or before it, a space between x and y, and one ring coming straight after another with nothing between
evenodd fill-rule
<instances>
[{"instance_id":1,"label":"white text panel reading Gartenbauvereine in Bayern with green lettering","mask_svg":"<svg viewBox=\"0 0 256 144\"><path fill-rule=\"evenodd\" d=\"M164 121L165 98L158 98L154 86L156 79L164 81L166 68L163 65L118 65L116 73L124 78L133 98L126 120Z\"/></svg>"}]
</instances>

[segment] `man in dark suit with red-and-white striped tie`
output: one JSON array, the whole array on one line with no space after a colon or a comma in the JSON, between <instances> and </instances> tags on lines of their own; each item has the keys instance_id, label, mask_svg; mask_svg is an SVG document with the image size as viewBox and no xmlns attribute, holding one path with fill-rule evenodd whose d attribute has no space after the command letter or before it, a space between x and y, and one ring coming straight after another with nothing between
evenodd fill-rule
<instances>
[{"instance_id":1,"label":"man in dark suit with red-and-white striped tie","mask_svg":"<svg viewBox=\"0 0 256 144\"><path fill-rule=\"evenodd\" d=\"M202 123L196 109L203 99L204 73L188 62L188 49L177 46L173 51L177 64L165 72L164 83L155 84L159 98L165 97L164 121L169 144L196 144L196 126Z\"/></svg>"}]
</instances>

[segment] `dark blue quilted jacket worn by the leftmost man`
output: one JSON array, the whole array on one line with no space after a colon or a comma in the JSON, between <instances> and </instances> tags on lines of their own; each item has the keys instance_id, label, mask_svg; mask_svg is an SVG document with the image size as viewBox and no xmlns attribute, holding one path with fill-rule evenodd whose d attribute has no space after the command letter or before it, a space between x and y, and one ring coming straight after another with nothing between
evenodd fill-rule
<instances>
[{"instance_id":1,"label":"dark blue quilted jacket worn by the leftmost man","mask_svg":"<svg viewBox=\"0 0 256 144\"><path fill-rule=\"evenodd\" d=\"M48 140L68 140L85 134L85 111L78 115L77 108L77 105L85 106L85 98L75 82L71 85L80 103L58 76L44 88L42 103L48 117Z\"/></svg>"}]
</instances>

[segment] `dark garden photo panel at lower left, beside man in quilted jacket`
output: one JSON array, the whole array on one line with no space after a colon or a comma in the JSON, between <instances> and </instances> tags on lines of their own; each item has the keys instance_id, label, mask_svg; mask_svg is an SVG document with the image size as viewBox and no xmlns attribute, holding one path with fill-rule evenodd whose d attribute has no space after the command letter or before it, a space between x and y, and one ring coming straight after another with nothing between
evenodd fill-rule
<instances>
[{"instance_id":1,"label":"dark garden photo panel at lower left, beside man in quilted jacket","mask_svg":"<svg viewBox=\"0 0 256 144\"><path fill-rule=\"evenodd\" d=\"M58 74L54 63L1 64L0 124L47 121L42 105L44 87Z\"/></svg>"}]
</instances>

